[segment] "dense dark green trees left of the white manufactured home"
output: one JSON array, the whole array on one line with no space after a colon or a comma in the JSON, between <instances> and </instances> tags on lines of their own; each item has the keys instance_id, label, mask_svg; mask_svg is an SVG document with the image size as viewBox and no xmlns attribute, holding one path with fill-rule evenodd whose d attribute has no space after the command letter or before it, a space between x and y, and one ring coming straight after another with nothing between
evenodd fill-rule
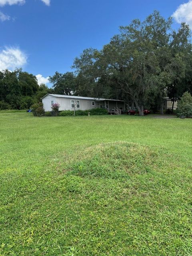
<instances>
[{"instance_id":1,"label":"dense dark green trees left of the white manufactured home","mask_svg":"<svg viewBox=\"0 0 192 256\"><path fill-rule=\"evenodd\" d=\"M0 110L28 109L51 91L44 84L38 86L36 76L22 69L0 72Z\"/></svg>"}]
</instances>

